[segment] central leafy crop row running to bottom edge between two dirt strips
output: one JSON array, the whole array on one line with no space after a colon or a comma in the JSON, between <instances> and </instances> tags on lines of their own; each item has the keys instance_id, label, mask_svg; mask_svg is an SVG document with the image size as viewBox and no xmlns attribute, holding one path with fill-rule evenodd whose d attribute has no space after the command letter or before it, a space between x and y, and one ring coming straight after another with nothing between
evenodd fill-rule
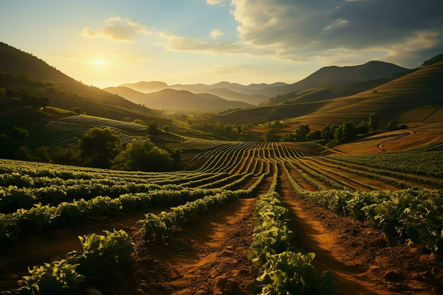
<instances>
[{"instance_id":1,"label":"central leafy crop row running to bottom edge between two dirt strips","mask_svg":"<svg viewBox=\"0 0 443 295\"><path fill-rule=\"evenodd\" d=\"M335 294L330 272L317 276L314 253L294 253L293 233L284 221L288 209L276 192L259 195L252 224L253 242L248 258L260 268L249 285L253 294Z\"/></svg>"}]
</instances>

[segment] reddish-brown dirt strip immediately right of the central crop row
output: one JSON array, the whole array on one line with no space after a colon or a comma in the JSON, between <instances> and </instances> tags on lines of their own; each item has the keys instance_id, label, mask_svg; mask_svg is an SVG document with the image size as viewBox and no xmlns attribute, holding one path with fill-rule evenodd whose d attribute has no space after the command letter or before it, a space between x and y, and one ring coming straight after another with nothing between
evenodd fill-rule
<instances>
[{"instance_id":1,"label":"reddish-brown dirt strip immediately right of the central crop row","mask_svg":"<svg viewBox=\"0 0 443 295\"><path fill-rule=\"evenodd\" d=\"M297 198L282 170L276 190L294 216L288 222L295 232L294 245L315 253L315 268L333 273L339 294L429 294L433 284L440 286L438 274L429 280L412 279L413 273L441 266L433 254ZM391 271L396 277L387 280L385 273Z\"/></svg>"}]
</instances>

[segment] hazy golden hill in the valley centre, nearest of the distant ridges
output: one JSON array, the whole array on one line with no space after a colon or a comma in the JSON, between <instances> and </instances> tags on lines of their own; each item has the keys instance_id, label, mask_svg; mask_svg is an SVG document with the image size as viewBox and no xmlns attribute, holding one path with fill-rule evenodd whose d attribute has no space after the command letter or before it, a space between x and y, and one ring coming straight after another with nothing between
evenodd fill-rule
<instances>
[{"instance_id":1,"label":"hazy golden hill in the valley centre, nearest of the distant ridges","mask_svg":"<svg viewBox=\"0 0 443 295\"><path fill-rule=\"evenodd\" d=\"M142 93L134 89L118 86L104 89L109 93L115 93L126 97L135 103L146 104L156 109L170 111L225 111L238 107L252 107L251 104L242 101L225 100L209 93L192 93L187 90L163 89L158 92Z\"/></svg>"}]
</instances>

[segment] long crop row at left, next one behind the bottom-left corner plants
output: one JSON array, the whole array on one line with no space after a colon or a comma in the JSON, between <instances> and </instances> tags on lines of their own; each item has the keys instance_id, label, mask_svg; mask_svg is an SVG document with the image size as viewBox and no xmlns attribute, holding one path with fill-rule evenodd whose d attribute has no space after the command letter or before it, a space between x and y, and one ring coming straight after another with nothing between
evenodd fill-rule
<instances>
[{"instance_id":1,"label":"long crop row at left, next one behind the bottom-left corner plants","mask_svg":"<svg viewBox=\"0 0 443 295\"><path fill-rule=\"evenodd\" d=\"M220 192L220 189L158 190L120 195L115 199L98 196L88 201L80 199L57 206L37 204L28 210L19 209L15 213L0 214L0 241L12 240L20 234L78 224L91 218L116 216L120 212L194 201Z\"/></svg>"}]
</instances>

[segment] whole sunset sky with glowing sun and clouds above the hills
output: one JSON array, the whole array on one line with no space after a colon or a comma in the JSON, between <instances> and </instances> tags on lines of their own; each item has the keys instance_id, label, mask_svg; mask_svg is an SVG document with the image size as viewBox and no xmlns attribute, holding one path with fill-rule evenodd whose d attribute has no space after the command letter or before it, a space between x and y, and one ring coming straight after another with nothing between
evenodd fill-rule
<instances>
[{"instance_id":1,"label":"whole sunset sky with glowing sun and clouds above the hills","mask_svg":"<svg viewBox=\"0 0 443 295\"><path fill-rule=\"evenodd\" d=\"M0 41L85 84L294 83L443 52L442 0L0 0Z\"/></svg>"}]
</instances>

